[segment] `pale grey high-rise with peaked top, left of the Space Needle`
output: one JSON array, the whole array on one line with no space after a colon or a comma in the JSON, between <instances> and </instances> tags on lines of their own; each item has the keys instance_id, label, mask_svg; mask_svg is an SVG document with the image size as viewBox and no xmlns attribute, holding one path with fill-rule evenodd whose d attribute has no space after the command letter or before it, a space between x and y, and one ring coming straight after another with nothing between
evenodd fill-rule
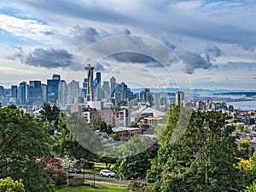
<instances>
[{"instance_id":1,"label":"pale grey high-rise with peaked top, left of the Space Needle","mask_svg":"<svg viewBox=\"0 0 256 192\"><path fill-rule=\"evenodd\" d=\"M80 97L80 88L79 82L72 81L67 85L68 92L68 103L69 104L77 104L79 102Z\"/></svg>"}]
</instances>

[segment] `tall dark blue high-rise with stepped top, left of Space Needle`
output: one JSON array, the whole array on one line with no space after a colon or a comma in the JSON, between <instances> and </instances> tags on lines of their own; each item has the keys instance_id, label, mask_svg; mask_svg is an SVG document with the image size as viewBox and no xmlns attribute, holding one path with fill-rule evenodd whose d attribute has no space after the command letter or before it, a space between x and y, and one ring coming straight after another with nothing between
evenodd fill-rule
<instances>
[{"instance_id":1,"label":"tall dark blue high-rise with stepped top, left of Space Needle","mask_svg":"<svg viewBox=\"0 0 256 192\"><path fill-rule=\"evenodd\" d=\"M54 74L52 79L47 80L46 96L47 102L56 104L59 99L59 82L61 82L61 76Z\"/></svg>"}]
</instances>

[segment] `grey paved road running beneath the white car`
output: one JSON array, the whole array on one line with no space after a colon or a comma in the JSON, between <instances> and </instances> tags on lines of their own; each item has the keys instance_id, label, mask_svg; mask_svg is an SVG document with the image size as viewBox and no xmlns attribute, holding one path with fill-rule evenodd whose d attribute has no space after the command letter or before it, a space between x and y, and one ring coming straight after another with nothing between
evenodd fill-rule
<instances>
[{"instance_id":1,"label":"grey paved road running beneath the white car","mask_svg":"<svg viewBox=\"0 0 256 192\"><path fill-rule=\"evenodd\" d=\"M72 173L75 178L83 178L83 174L74 174ZM84 179L92 180L93 181L93 174L84 174ZM118 180L115 178L108 178L108 177L101 177L99 175L95 175L96 181L102 181L102 182L109 182L113 184L129 184L129 180Z\"/></svg>"}]
</instances>

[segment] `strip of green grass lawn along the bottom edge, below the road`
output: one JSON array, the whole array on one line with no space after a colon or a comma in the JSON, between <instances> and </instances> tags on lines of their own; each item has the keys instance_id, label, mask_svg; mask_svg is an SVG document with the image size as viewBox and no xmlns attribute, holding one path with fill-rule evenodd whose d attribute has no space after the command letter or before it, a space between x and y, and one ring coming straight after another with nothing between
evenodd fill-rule
<instances>
[{"instance_id":1,"label":"strip of green grass lawn along the bottom edge, below the road","mask_svg":"<svg viewBox=\"0 0 256 192\"><path fill-rule=\"evenodd\" d=\"M93 187L90 185L81 185L81 186L64 186L61 189L57 189L57 192L71 192L71 191L104 191L104 192L127 192L126 189L114 189L106 187Z\"/></svg>"}]
</instances>

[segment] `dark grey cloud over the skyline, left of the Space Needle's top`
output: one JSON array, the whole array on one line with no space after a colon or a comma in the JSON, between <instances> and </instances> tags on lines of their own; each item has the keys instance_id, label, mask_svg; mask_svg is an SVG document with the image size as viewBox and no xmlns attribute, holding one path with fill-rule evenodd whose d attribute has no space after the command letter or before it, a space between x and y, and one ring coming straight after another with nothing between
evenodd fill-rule
<instances>
[{"instance_id":1,"label":"dark grey cloud over the skyline, left of the Space Needle's top","mask_svg":"<svg viewBox=\"0 0 256 192\"><path fill-rule=\"evenodd\" d=\"M26 55L23 62L37 67L67 68L73 63L73 54L64 49L35 48L32 53Z\"/></svg>"}]
</instances>

